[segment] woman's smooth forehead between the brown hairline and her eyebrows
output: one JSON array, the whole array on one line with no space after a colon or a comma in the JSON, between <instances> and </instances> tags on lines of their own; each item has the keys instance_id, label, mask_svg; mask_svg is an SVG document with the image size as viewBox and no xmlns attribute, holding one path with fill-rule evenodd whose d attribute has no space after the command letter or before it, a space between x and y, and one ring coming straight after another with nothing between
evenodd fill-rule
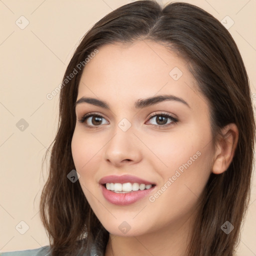
<instances>
[{"instance_id":1,"label":"woman's smooth forehead between the brown hairline and her eyebrows","mask_svg":"<svg viewBox=\"0 0 256 256\"><path fill-rule=\"evenodd\" d=\"M83 69L77 98L88 95L132 103L157 93L189 98L199 93L196 87L185 59L162 44L141 40L99 47Z\"/></svg>"}]
</instances>

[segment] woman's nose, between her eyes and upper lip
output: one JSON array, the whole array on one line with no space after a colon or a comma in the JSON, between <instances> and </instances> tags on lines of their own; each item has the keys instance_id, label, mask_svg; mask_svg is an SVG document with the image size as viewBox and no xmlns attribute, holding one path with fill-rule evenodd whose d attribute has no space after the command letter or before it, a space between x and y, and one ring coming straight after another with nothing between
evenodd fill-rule
<instances>
[{"instance_id":1,"label":"woman's nose, between her eyes and upper lip","mask_svg":"<svg viewBox=\"0 0 256 256\"><path fill-rule=\"evenodd\" d=\"M103 148L104 159L116 167L139 162L142 158L139 140L131 128L123 131L117 127Z\"/></svg>"}]
</instances>

